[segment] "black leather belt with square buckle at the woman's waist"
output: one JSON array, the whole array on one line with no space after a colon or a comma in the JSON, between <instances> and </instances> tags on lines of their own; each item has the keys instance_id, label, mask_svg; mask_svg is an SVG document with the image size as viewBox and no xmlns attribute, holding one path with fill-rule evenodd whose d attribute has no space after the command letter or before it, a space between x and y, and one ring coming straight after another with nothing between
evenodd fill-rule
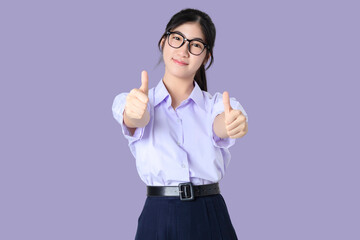
<instances>
[{"instance_id":1,"label":"black leather belt with square buckle at the woman's waist","mask_svg":"<svg viewBox=\"0 0 360 240\"><path fill-rule=\"evenodd\" d=\"M179 196L180 200L194 200L195 197L219 194L219 183L193 185L191 182L180 183L178 186L146 186L147 196Z\"/></svg>"}]
</instances>

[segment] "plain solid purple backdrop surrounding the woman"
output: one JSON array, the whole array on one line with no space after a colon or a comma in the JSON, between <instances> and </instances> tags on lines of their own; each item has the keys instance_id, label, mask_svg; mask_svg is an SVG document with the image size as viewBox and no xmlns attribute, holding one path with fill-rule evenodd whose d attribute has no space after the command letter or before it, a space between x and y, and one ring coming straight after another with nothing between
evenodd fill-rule
<instances>
[{"instance_id":1,"label":"plain solid purple backdrop surrounding the woman","mask_svg":"<svg viewBox=\"0 0 360 240\"><path fill-rule=\"evenodd\" d=\"M221 181L239 239L360 239L355 2L2 1L0 239L134 238L146 187L112 101L158 83L186 7L217 29L208 91L250 119Z\"/></svg>"}]
</instances>

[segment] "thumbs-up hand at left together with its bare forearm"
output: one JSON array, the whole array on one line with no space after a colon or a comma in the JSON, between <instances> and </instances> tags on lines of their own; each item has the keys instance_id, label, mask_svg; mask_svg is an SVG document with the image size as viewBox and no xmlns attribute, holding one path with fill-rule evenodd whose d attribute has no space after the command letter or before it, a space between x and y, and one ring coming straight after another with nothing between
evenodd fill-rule
<instances>
[{"instance_id":1,"label":"thumbs-up hand at left together with its bare forearm","mask_svg":"<svg viewBox=\"0 0 360 240\"><path fill-rule=\"evenodd\" d=\"M141 72L140 88L132 89L126 96L124 115L126 115L127 120L129 120L125 122L128 127L143 127L148 123L150 119L149 112L147 111L147 104L149 102L148 92L149 77L148 73L144 70ZM146 124L144 125L144 123Z\"/></svg>"}]
</instances>

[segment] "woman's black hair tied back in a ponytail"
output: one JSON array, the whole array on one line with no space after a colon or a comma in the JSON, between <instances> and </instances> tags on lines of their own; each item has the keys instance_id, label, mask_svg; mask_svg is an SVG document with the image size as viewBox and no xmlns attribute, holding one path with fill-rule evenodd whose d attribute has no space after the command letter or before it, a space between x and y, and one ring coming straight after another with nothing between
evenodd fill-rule
<instances>
[{"instance_id":1,"label":"woman's black hair tied back in a ponytail","mask_svg":"<svg viewBox=\"0 0 360 240\"><path fill-rule=\"evenodd\" d=\"M208 65L208 67L206 69L205 69L206 63L201 64L201 67L197 70L195 77L194 77L195 81L197 82L197 84L199 85L201 90L207 91L205 71L207 69L209 69L209 67L211 66L211 64L214 61L213 48L215 45L215 36L216 36L215 25L212 22L209 15L207 15L206 13L204 13L198 9L193 9L193 8L186 8L186 9L183 9L180 12L176 13L174 16L172 16L169 23L166 25L165 32L161 36L161 38L158 42L158 47L162 54L162 50L164 49L164 44L166 43L166 41L164 41L162 46L160 46L160 44L161 44L161 40L163 38L167 37L166 32L171 31L174 28L176 28L177 26L179 26L183 23L187 23L187 22L198 22L200 24L201 30L205 36L205 42L209 46L209 48L206 49L207 52L206 52L206 56L205 56L205 61L207 61L207 59L209 58L209 55L211 55L210 64ZM161 56L157 65L159 65L162 60L163 60L163 58Z\"/></svg>"}]
</instances>

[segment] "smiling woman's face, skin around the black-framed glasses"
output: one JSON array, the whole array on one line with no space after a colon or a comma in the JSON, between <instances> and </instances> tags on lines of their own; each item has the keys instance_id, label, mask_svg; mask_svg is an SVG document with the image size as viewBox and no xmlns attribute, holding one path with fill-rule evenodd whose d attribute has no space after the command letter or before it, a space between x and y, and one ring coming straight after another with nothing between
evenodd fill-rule
<instances>
[{"instance_id":1,"label":"smiling woman's face, skin around the black-framed glasses","mask_svg":"<svg viewBox=\"0 0 360 240\"><path fill-rule=\"evenodd\" d=\"M201 38L204 42L206 42L199 23L184 23L172 29L171 31L179 31L189 40L194 38ZM166 74L170 74L178 78L193 79L197 70L202 64L205 64L208 59L205 59L207 50L205 49L200 55L196 56L189 52L188 41L185 41L185 43L180 48L171 47L168 44L167 38L163 38L161 44L163 44L164 41L166 42L163 48L163 58ZM178 64L174 60L184 62L186 65Z\"/></svg>"}]
</instances>

